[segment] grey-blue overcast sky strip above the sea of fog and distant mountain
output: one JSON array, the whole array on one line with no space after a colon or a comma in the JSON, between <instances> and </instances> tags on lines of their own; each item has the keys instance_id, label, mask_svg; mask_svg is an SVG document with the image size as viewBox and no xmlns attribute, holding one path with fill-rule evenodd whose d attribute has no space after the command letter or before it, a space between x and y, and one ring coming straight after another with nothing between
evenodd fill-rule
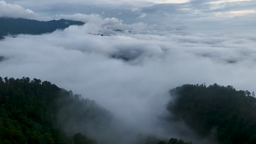
<instances>
[{"instance_id":1,"label":"grey-blue overcast sky strip above the sea of fog and distant mountain","mask_svg":"<svg viewBox=\"0 0 256 144\"><path fill-rule=\"evenodd\" d=\"M50 20L61 14L98 14L129 24L144 22L165 29L178 26L196 30L255 29L256 22L254 0L8 0L1 1L0 7L0 15L6 16Z\"/></svg>"}]
</instances>

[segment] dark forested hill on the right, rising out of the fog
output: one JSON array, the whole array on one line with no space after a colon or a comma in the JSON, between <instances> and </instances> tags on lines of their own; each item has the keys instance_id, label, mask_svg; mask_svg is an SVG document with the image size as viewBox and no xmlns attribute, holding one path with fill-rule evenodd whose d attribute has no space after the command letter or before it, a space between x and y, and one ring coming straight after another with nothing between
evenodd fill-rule
<instances>
[{"instance_id":1,"label":"dark forested hill on the right, rising out of the fog","mask_svg":"<svg viewBox=\"0 0 256 144\"><path fill-rule=\"evenodd\" d=\"M248 91L217 84L184 85L171 90L168 105L197 134L215 134L220 143L256 143L256 99Z\"/></svg>"}]
</instances>

